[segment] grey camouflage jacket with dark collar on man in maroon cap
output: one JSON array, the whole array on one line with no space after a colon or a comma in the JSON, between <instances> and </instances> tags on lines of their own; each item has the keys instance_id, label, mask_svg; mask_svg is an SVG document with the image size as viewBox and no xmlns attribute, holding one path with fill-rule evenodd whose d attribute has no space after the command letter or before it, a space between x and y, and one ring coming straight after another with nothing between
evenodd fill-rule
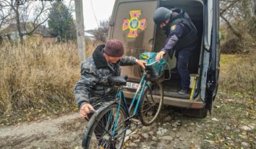
<instances>
[{"instance_id":1,"label":"grey camouflage jacket with dark collar on man in maroon cap","mask_svg":"<svg viewBox=\"0 0 256 149\"><path fill-rule=\"evenodd\" d=\"M87 58L81 65L81 78L74 86L74 96L77 107L80 109L83 104L97 102L102 96L114 94L114 86L108 84L109 76L120 76L120 66L133 66L136 58L122 56L115 65L107 62L103 56L105 45L98 45L93 55Z\"/></svg>"}]
</instances>

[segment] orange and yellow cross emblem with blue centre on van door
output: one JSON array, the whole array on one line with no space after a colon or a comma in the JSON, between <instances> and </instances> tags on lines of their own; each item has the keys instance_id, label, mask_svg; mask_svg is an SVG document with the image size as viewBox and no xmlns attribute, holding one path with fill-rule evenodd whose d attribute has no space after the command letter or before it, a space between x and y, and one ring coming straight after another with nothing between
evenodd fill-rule
<instances>
[{"instance_id":1,"label":"orange and yellow cross emblem with blue centre on van door","mask_svg":"<svg viewBox=\"0 0 256 149\"><path fill-rule=\"evenodd\" d=\"M140 19L140 10L132 10L129 12L131 19L124 19L123 31L129 29L128 37L137 37L137 29L145 30L146 19Z\"/></svg>"}]
</instances>

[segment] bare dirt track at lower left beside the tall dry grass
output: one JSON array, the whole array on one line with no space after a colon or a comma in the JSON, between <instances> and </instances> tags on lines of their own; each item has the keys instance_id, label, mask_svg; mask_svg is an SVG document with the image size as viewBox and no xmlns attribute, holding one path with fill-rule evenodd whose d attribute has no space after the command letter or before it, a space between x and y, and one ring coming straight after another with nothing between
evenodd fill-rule
<instances>
[{"instance_id":1,"label":"bare dirt track at lower left beside the tall dry grass","mask_svg":"<svg viewBox=\"0 0 256 149\"><path fill-rule=\"evenodd\" d=\"M0 127L0 148L74 148L80 146L85 119L78 112Z\"/></svg>"}]
</instances>

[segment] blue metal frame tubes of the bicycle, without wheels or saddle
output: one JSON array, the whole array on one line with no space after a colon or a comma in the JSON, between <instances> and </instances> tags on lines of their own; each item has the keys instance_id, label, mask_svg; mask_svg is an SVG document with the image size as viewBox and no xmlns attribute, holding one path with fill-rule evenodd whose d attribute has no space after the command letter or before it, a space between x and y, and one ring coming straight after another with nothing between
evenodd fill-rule
<instances>
[{"instance_id":1,"label":"blue metal frame tubes of the bicycle, without wheels or saddle","mask_svg":"<svg viewBox=\"0 0 256 149\"><path fill-rule=\"evenodd\" d=\"M148 83L147 73L145 72L145 69L143 69L143 76L140 80L140 84L139 84L138 89L135 93L135 96L132 99L132 103L130 104L129 108L128 108L128 105L127 105L127 101L124 97L123 87L120 87L120 86L118 87L118 91L117 91L115 97L117 98L119 96L119 99L121 99L121 101L123 101L125 112L127 112L127 116L128 116L128 118L124 119L124 121L127 121L127 120L131 119L132 117L135 117L135 114L137 113L137 109L140 105L140 101L142 99L142 94L143 94L143 91L144 91L146 85L148 87L150 87L150 84ZM140 91L140 89L141 89L141 91ZM137 104L135 106L135 111L133 112L133 114L131 116L129 114L129 112L131 111L131 109L133 107L133 104L135 103L135 100L137 98L137 95L138 95L139 91L140 91L141 94L140 94L139 98L137 99ZM117 136L121 135L122 133L124 133L126 130L129 129L129 126L128 126L124 130L122 130L119 134L117 134L117 135L114 134L116 132L116 124L117 124L117 119L118 119L118 115L119 115L119 109L121 107L121 101L119 101L119 105L118 105L118 108L117 108L117 111L116 111L116 119L115 119L115 122L114 122L114 131L113 131L113 134L112 134L114 136L114 139L116 139ZM110 119L108 119L108 122L109 121L110 121Z\"/></svg>"}]
</instances>

